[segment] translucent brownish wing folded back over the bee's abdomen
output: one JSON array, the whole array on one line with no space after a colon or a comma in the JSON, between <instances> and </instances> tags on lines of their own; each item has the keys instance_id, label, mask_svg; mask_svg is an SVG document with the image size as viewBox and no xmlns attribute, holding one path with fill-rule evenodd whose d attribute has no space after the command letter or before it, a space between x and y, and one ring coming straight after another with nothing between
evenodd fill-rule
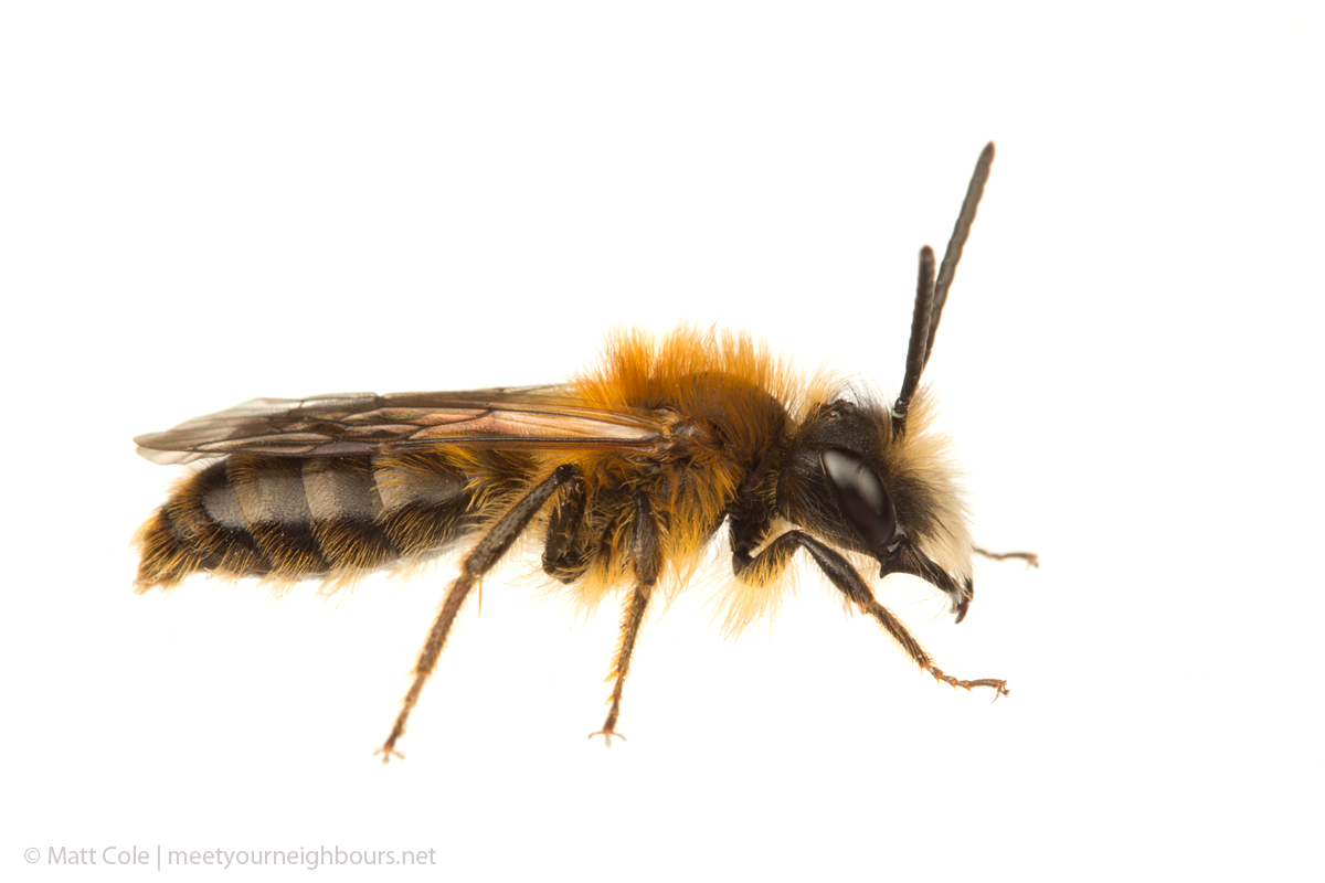
<instances>
[{"instance_id":1,"label":"translucent brownish wing folded back over the bee's abdomen","mask_svg":"<svg viewBox=\"0 0 1325 883\"><path fill-rule=\"evenodd\" d=\"M154 463L227 454L351 457L443 445L651 453L665 443L673 421L666 412L588 405L571 387L355 392L254 398L134 442Z\"/></svg>"}]
</instances>

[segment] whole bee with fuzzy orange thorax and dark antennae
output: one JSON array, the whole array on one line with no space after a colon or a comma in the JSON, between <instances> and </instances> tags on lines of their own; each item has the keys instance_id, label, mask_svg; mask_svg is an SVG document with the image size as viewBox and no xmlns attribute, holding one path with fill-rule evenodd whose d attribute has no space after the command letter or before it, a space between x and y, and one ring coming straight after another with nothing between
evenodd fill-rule
<instances>
[{"instance_id":1,"label":"whole bee with fuzzy orange thorax and dark antennae","mask_svg":"<svg viewBox=\"0 0 1325 883\"><path fill-rule=\"evenodd\" d=\"M602 364L563 385L258 398L135 440L158 463L213 458L139 530L136 590L199 571L339 584L462 549L383 763L403 756L396 744L456 616L521 544L541 544L543 572L587 606L624 590L610 708L591 733L608 745L649 605L690 580L723 524L729 631L776 608L803 551L924 671L1007 695L1006 680L943 673L865 577L876 565L880 580L920 577L958 622L970 609L973 556L984 552L920 380L992 160L988 144L937 278L933 250L921 250L890 406L804 379L745 334L689 326L612 335Z\"/></svg>"}]
</instances>

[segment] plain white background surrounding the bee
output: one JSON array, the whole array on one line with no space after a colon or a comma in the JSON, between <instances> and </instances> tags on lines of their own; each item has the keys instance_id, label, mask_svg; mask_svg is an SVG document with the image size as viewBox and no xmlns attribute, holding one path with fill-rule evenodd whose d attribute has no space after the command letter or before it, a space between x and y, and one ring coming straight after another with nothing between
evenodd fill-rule
<instances>
[{"instance_id":1,"label":"plain white background surrounding the bee","mask_svg":"<svg viewBox=\"0 0 1325 883\"><path fill-rule=\"evenodd\" d=\"M1320 879L1320 5L466 5L0 15L4 876L339 846L466 880ZM606 751L616 610L525 563L382 767L445 567L130 592L174 477L131 437L249 397L551 381L678 319L896 389L988 139L928 379L977 536L1043 568L982 564L959 627L881 597L1008 700L807 575L771 634L722 642L702 592L651 618Z\"/></svg>"}]
</instances>

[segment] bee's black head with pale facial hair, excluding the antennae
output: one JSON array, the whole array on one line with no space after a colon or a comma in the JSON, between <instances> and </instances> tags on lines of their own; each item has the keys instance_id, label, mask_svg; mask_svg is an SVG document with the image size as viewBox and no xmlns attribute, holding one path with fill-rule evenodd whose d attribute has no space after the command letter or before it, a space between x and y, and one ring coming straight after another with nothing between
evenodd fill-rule
<instances>
[{"instance_id":1,"label":"bee's black head with pale facial hair, excluding the antennae","mask_svg":"<svg viewBox=\"0 0 1325 883\"><path fill-rule=\"evenodd\" d=\"M946 441L926 432L925 391L906 432L877 405L839 400L800 426L778 508L835 545L942 589L961 622L971 600L971 535Z\"/></svg>"}]
</instances>

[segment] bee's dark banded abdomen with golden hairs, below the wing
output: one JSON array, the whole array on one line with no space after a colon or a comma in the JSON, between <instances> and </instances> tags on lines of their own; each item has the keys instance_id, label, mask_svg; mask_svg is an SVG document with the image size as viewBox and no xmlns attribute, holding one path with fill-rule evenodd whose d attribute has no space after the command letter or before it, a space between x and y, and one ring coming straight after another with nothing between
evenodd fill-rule
<instances>
[{"instance_id":1,"label":"bee's dark banded abdomen with golden hairs, below the wing","mask_svg":"<svg viewBox=\"0 0 1325 883\"><path fill-rule=\"evenodd\" d=\"M370 571L468 532L466 481L433 462L229 457L189 477L138 534L138 590L196 571L301 579Z\"/></svg>"}]
</instances>

